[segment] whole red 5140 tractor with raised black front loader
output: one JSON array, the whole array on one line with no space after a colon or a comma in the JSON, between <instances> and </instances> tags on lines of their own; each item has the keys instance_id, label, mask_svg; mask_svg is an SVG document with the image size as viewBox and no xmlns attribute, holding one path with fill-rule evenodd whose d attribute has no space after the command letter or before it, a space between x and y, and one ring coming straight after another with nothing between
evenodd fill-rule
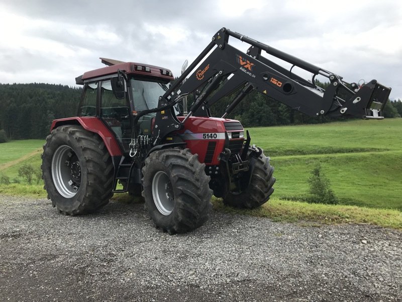
<instances>
[{"instance_id":1,"label":"whole red 5140 tractor with raised black front loader","mask_svg":"<svg viewBox=\"0 0 402 302\"><path fill-rule=\"evenodd\" d=\"M246 53L229 37L250 45ZM307 81L263 57L264 51L313 74ZM381 119L390 88L358 87L332 72L268 45L219 30L174 81L169 69L111 59L76 78L83 85L77 117L53 121L42 171L48 198L64 214L92 212L114 193L145 199L154 223L169 234L198 228L212 194L226 205L255 208L269 199L275 178L269 158L248 131L226 116L251 91L309 116ZM324 91L316 75L329 79ZM195 92L197 92L195 94ZM184 100L196 96L188 113ZM210 106L226 96L225 114Z\"/></svg>"}]
</instances>

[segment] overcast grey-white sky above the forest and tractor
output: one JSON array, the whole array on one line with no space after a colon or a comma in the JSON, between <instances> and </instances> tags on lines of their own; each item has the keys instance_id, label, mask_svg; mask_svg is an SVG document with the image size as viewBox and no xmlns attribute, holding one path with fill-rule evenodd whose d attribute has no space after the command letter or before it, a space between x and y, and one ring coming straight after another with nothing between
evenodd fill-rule
<instances>
[{"instance_id":1,"label":"overcast grey-white sky above the forest and tractor","mask_svg":"<svg viewBox=\"0 0 402 302\"><path fill-rule=\"evenodd\" d=\"M75 85L99 57L180 74L222 27L402 100L402 2L0 0L0 83ZM246 51L249 45L236 44Z\"/></svg>"}]
</instances>

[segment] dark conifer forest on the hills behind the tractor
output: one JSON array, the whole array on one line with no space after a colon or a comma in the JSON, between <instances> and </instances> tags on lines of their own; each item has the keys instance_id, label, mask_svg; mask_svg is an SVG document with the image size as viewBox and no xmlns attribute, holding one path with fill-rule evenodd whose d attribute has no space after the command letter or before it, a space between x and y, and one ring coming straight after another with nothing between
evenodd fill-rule
<instances>
[{"instance_id":1,"label":"dark conifer forest on the hills behind the tractor","mask_svg":"<svg viewBox=\"0 0 402 302\"><path fill-rule=\"evenodd\" d=\"M320 86L325 84L318 83ZM77 114L81 87L54 84L0 84L0 142L10 139L45 138L53 119ZM217 102L211 111L222 116L229 98ZM189 100L191 104L191 97ZM402 116L402 102L387 102L385 117ZM310 118L257 92L248 94L228 116L246 127L318 123L330 118Z\"/></svg>"}]
</instances>

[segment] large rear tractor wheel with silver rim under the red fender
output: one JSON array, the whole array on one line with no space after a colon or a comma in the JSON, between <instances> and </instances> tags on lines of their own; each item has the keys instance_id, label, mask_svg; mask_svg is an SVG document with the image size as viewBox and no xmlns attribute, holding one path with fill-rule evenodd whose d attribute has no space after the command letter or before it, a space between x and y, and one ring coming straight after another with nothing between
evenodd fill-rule
<instances>
[{"instance_id":1,"label":"large rear tractor wheel with silver rim under the red fender","mask_svg":"<svg viewBox=\"0 0 402 302\"><path fill-rule=\"evenodd\" d=\"M43 146L41 169L48 199L65 215L93 212L113 196L108 149L96 133L80 126L52 130Z\"/></svg>"}]
</instances>

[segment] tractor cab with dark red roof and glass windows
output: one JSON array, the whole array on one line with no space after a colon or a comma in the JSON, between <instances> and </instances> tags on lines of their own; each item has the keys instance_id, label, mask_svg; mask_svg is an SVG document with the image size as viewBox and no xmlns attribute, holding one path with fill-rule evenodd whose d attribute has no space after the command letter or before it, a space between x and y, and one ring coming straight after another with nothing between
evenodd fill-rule
<instances>
[{"instance_id":1,"label":"tractor cab with dark red roof and glass windows","mask_svg":"<svg viewBox=\"0 0 402 302\"><path fill-rule=\"evenodd\" d=\"M101 58L107 67L85 72L76 78L83 85L79 117L100 119L114 134L124 154L130 152L133 116L158 107L158 99L174 78L168 69L134 62ZM139 135L151 133L156 113L137 122Z\"/></svg>"}]
</instances>

